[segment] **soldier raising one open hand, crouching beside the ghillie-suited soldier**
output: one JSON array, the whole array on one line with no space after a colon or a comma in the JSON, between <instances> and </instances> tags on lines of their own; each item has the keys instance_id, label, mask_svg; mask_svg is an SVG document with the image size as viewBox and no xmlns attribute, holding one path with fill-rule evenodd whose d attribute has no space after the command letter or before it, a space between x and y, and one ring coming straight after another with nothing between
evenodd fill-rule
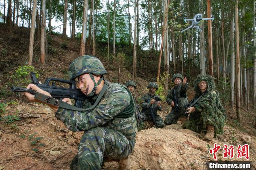
<instances>
[{"instance_id":1,"label":"soldier raising one open hand, crouching beside the ghillie-suited soldier","mask_svg":"<svg viewBox=\"0 0 256 170\"><path fill-rule=\"evenodd\" d=\"M172 78L174 88L172 88L166 96L166 102L172 106L172 111L165 117L165 124L175 124L177 120L185 120L184 117L188 104L187 98L187 78L183 79L181 74L174 74ZM175 94L174 94L175 93ZM175 98L176 97L176 98ZM175 105L176 104L176 105Z\"/></svg>"}]
</instances>

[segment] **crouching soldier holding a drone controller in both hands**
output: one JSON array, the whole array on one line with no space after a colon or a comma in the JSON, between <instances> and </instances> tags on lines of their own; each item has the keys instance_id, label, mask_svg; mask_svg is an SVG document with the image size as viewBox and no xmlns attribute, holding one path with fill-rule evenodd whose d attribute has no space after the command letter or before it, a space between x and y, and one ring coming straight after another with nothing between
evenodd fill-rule
<instances>
[{"instance_id":1,"label":"crouching soldier holding a drone controller in both hands","mask_svg":"<svg viewBox=\"0 0 256 170\"><path fill-rule=\"evenodd\" d=\"M140 99L140 106L142 107L142 112L146 115L146 121L152 121L153 118L151 116L150 107L153 110L153 114L155 116L155 126L159 128L163 128L165 124L163 123L163 119L157 114L157 111L161 111L161 101L155 101L154 97L158 97L155 95L156 90L158 89L158 85L156 82L150 82L147 85L147 89L149 90L148 94L145 94Z\"/></svg>"}]
</instances>

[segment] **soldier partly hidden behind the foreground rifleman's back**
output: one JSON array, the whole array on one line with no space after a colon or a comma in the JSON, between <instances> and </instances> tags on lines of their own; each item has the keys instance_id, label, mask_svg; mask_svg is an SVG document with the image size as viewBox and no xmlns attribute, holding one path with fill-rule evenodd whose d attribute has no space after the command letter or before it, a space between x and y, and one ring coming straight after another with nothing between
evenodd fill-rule
<instances>
[{"instance_id":1,"label":"soldier partly hidden behind the foreground rifleman's back","mask_svg":"<svg viewBox=\"0 0 256 170\"><path fill-rule=\"evenodd\" d=\"M132 94L133 94L134 90L136 89L136 84L132 80L127 81L125 83L125 86L127 86L127 88L131 91ZM133 100L135 101L134 97L133 97ZM136 105L136 103L135 103L135 106L136 106L136 114L135 114L135 116L136 116L136 120L137 120L137 127L138 127L138 130L140 131L144 127L143 120L146 119L146 116L144 115L144 113L140 112L140 108L139 108L138 105Z\"/></svg>"}]
</instances>

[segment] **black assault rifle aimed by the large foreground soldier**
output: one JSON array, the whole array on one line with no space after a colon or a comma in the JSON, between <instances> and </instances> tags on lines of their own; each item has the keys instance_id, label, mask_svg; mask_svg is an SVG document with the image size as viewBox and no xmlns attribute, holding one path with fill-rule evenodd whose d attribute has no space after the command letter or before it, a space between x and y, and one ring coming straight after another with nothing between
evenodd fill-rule
<instances>
[{"instance_id":1,"label":"black assault rifle aimed by the large foreground soldier","mask_svg":"<svg viewBox=\"0 0 256 170\"><path fill-rule=\"evenodd\" d=\"M85 94L83 94L80 89L76 88L76 82L73 80L64 80L60 78L47 78L44 84L39 83L37 80L37 77L35 76L35 73L30 73L31 82L32 84L37 85L40 89L49 92L53 98L57 98L59 100L62 100L63 98L71 98L75 100L75 107L82 108L83 107L83 101L86 99ZM56 83L60 83L61 87L56 86ZM64 85L68 86L68 88L65 88ZM12 92L29 92L31 94L37 93L33 89L26 89L26 88L20 88L20 87L11 87ZM46 103L48 101L45 101Z\"/></svg>"}]
</instances>

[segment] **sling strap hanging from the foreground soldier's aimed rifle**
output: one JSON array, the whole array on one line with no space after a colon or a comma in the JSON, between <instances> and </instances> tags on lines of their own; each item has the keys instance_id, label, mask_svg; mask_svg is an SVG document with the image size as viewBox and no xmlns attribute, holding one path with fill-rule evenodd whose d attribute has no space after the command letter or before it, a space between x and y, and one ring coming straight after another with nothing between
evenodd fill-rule
<instances>
[{"instance_id":1,"label":"sling strap hanging from the foreground soldier's aimed rifle","mask_svg":"<svg viewBox=\"0 0 256 170\"><path fill-rule=\"evenodd\" d=\"M61 100L57 100L56 98L52 98L50 96L47 96L45 94L42 94L42 93L35 93L35 99L37 100L40 100L40 101L43 101L47 104L50 104L50 105L55 105L55 106L59 106L60 108L64 108L64 109L69 109L69 110L73 110L73 111L88 111L88 110L91 110L91 109L94 109L96 107L96 105L98 105L99 101L101 100L103 94L106 92L107 88L110 86L110 82L108 82L107 80L105 80L104 82L104 86L101 90L101 92L99 93L99 96L98 98L96 99L95 103L93 104L92 107L90 108L86 108L86 109L82 109L82 108L78 108L78 107L75 107L73 105L70 105L68 103L65 103L64 101L61 101Z\"/></svg>"}]
</instances>

